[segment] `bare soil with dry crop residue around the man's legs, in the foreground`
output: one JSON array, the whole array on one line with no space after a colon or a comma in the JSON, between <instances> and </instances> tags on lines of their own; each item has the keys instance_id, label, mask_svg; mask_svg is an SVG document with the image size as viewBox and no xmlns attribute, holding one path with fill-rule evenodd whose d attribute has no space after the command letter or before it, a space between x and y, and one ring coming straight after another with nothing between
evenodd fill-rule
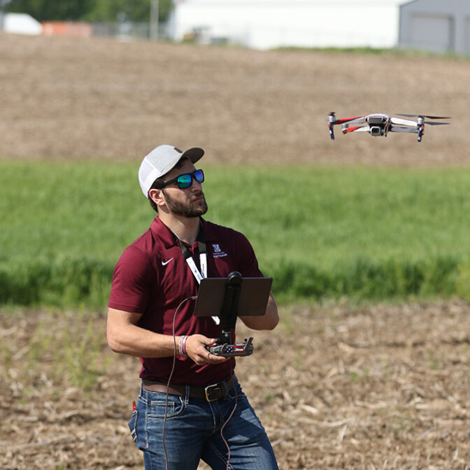
<instances>
[{"instance_id":1,"label":"bare soil with dry crop residue around the man's legs, in the foreground","mask_svg":"<svg viewBox=\"0 0 470 470\"><path fill-rule=\"evenodd\" d=\"M469 312L282 308L236 366L280 469L468 469ZM143 468L127 429L140 363L108 349L105 323L0 310L0 469Z\"/></svg>"}]
</instances>

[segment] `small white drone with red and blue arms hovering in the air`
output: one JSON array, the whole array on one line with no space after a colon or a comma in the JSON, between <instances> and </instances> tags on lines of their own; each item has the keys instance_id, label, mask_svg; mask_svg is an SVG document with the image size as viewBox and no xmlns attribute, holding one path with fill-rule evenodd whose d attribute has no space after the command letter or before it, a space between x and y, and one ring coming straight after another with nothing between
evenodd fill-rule
<instances>
[{"instance_id":1,"label":"small white drone with red and blue arms hovering in the air","mask_svg":"<svg viewBox=\"0 0 470 470\"><path fill-rule=\"evenodd\" d=\"M427 116L422 114L397 114L406 118L415 118L415 121L402 118L393 118L387 114L369 114L367 116L357 116L356 118L336 119L334 112L329 113L328 129L329 136L334 140L333 127L341 124L343 134L348 132L369 132L371 136L387 136L389 132L406 132L418 134L418 142L421 142L425 134L425 124L430 126L444 126L449 122L433 122L428 119L450 119L444 116ZM364 124L364 125L356 125Z\"/></svg>"}]
</instances>

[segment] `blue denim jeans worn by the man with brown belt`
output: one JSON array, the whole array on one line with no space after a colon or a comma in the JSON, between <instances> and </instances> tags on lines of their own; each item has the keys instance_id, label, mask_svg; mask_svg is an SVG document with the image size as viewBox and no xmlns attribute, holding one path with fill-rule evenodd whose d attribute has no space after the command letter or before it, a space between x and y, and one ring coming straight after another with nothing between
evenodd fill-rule
<instances>
[{"instance_id":1,"label":"blue denim jeans worn by the man with brown belt","mask_svg":"<svg viewBox=\"0 0 470 470\"><path fill-rule=\"evenodd\" d=\"M132 439L143 451L145 470L197 470L204 460L213 470L278 470L259 418L235 381L227 397L215 401L149 392L141 388L129 421ZM234 407L235 411L227 424ZM230 448L230 456L221 436Z\"/></svg>"}]
</instances>

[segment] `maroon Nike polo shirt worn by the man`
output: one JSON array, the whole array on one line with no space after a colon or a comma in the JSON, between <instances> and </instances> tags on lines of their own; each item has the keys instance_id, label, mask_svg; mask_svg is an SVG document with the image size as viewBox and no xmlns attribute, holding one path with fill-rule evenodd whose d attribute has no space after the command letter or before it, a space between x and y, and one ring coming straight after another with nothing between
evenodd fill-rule
<instances>
[{"instance_id":1,"label":"maroon Nike polo shirt worn by the man","mask_svg":"<svg viewBox=\"0 0 470 470\"><path fill-rule=\"evenodd\" d=\"M202 220L202 227L209 278L225 278L232 271L244 277L262 276L255 252L243 234L206 220ZM198 243L188 248L200 269ZM124 250L116 264L108 306L141 313L139 326L171 336L178 305L187 297L196 296L198 290L199 283L183 257L178 239L155 217L147 232ZM188 300L180 307L175 318L176 336L220 337L220 327L211 317L193 315L194 305L194 300ZM141 362L141 378L159 382L169 379L173 357L144 357ZM189 357L178 356L171 383L199 386L220 382L232 376L234 367L234 358L223 364L198 366Z\"/></svg>"}]
</instances>

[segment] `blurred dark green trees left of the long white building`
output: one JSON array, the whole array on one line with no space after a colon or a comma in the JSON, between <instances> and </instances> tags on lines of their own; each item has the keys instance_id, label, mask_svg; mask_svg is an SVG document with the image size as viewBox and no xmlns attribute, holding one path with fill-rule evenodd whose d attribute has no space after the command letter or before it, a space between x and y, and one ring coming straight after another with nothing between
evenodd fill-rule
<instances>
[{"instance_id":1,"label":"blurred dark green trees left of the long white building","mask_svg":"<svg viewBox=\"0 0 470 470\"><path fill-rule=\"evenodd\" d=\"M0 0L4 13L28 13L38 21L148 22L151 0ZM159 0L159 22L173 0Z\"/></svg>"}]
</instances>

